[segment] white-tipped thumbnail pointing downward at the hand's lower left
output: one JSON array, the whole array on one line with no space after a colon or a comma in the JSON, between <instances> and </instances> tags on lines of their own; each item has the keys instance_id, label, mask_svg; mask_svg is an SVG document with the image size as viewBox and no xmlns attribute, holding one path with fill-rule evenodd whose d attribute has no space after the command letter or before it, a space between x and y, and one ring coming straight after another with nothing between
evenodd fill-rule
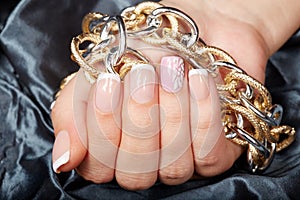
<instances>
[{"instance_id":1,"label":"white-tipped thumbnail pointing downward at the hand's lower left","mask_svg":"<svg viewBox=\"0 0 300 200\"><path fill-rule=\"evenodd\" d=\"M62 165L70 160L70 137L67 131L60 131L55 139L52 152L53 170L59 173L58 170Z\"/></svg>"}]
</instances>

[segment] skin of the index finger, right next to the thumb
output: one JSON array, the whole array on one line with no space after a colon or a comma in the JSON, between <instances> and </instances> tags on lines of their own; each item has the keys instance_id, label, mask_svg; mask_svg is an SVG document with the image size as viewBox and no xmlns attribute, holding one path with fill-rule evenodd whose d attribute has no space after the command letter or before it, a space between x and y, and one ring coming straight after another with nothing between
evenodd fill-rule
<instances>
[{"instance_id":1,"label":"skin of the index finger, right next to the thumb","mask_svg":"<svg viewBox=\"0 0 300 200\"><path fill-rule=\"evenodd\" d=\"M95 84L91 89L87 106L88 153L77 169L85 179L95 183L109 182L114 178L121 136L121 101L118 100L117 107L109 112L103 112L96 106L96 87L105 88L105 92L112 94L103 96L105 99L102 98L101 101L112 101L115 97L119 99L120 84L118 82L111 86L111 82L113 81L109 78L97 81L97 86Z\"/></svg>"}]
</instances>

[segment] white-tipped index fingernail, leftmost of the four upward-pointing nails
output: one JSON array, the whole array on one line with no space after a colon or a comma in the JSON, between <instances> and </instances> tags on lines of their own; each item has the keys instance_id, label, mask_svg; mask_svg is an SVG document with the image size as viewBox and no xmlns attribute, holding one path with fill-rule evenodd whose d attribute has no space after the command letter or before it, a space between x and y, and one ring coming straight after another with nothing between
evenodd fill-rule
<instances>
[{"instance_id":1,"label":"white-tipped index fingernail, leftmost of the four upward-pointing nails","mask_svg":"<svg viewBox=\"0 0 300 200\"><path fill-rule=\"evenodd\" d=\"M97 108L105 113L111 113L120 102L121 81L117 74L101 73L97 79L95 102Z\"/></svg>"}]
</instances>

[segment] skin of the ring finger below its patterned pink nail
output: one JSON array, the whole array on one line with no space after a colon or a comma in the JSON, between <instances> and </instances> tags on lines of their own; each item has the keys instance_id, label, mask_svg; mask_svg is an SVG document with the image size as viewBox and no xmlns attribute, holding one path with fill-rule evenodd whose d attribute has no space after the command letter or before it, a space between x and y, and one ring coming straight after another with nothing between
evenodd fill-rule
<instances>
[{"instance_id":1,"label":"skin of the ring finger below its patterned pink nail","mask_svg":"<svg viewBox=\"0 0 300 200\"><path fill-rule=\"evenodd\" d=\"M160 73L162 67L166 66L160 66ZM159 99L161 119L159 179L165 184L177 185L189 180L194 172L186 73L179 92L168 92L160 85Z\"/></svg>"}]
</instances>

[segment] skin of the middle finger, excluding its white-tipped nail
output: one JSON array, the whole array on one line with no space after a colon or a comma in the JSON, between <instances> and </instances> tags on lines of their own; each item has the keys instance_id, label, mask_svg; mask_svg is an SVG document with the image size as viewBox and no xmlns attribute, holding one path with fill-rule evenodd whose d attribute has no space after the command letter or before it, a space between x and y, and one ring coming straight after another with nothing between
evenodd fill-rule
<instances>
[{"instance_id":1,"label":"skin of the middle finger, excluding its white-tipped nail","mask_svg":"<svg viewBox=\"0 0 300 200\"><path fill-rule=\"evenodd\" d=\"M138 103L130 92L132 86L130 78L132 78L132 74L128 74L124 80L122 139L115 176L121 187L129 190L142 190L151 187L157 180L159 160L158 89L155 80L154 83L151 83L153 97L149 100L147 93L138 92L138 98L144 95L143 98L147 97L149 100L145 103ZM134 79L133 81L138 80Z\"/></svg>"}]
</instances>

